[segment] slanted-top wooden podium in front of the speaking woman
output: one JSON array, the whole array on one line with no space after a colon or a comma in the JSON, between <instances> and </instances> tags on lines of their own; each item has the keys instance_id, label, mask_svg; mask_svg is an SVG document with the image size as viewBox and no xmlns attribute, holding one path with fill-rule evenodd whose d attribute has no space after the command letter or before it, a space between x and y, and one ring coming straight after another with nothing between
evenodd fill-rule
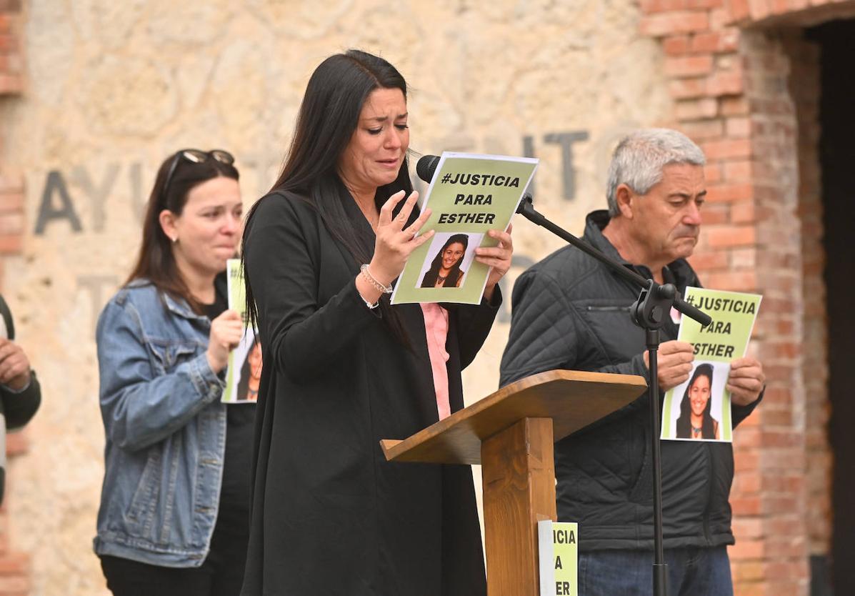
<instances>
[{"instance_id":1,"label":"slanted-top wooden podium in front of the speaking woman","mask_svg":"<svg viewBox=\"0 0 855 596\"><path fill-rule=\"evenodd\" d=\"M487 594L538 596L537 522L556 520L552 444L646 387L640 376L550 370L380 445L389 461L481 463Z\"/></svg>"}]
</instances>

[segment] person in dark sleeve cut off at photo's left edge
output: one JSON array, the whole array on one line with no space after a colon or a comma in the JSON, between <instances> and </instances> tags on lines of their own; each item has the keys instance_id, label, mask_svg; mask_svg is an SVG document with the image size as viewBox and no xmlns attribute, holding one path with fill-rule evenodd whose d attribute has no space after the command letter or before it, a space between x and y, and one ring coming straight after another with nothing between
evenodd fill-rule
<instances>
[{"instance_id":1,"label":"person in dark sleeve cut off at photo's left edge","mask_svg":"<svg viewBox=\"0 0 855 596\"><path fill-rule=\"evenodd\" d=\"M0 296L0 503L6 487L6 431L30 422L42 401L41 387L21 345L15 343L15 323Z\"/></svg>"}]
</instances>

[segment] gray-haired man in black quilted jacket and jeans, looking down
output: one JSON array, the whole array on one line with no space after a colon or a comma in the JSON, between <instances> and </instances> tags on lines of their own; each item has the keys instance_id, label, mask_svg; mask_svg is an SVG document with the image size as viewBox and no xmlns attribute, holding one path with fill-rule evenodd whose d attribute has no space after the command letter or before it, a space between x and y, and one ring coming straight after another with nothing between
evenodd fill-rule
<instances>
[{"instance_id":1,"label":"gray-haired man in black quilted jacket and jeans, looking down","mask_svg":"<svg viewBox=\"0 0 855 596\"><path fill-rule=\"evenodd\" d=\"M699 280L686 262L698 242L706 194L703 152L683 134L654 128L618 144L609 168L609 210L587 216L584 239L646 278L686 286ZM550 369L648 377L644 332L628 307L638 288L572 247L516 281L501 384ZM687 381L693 348L661 332L662 391ZM758 404L763 369L731 363L734 425ZM648 397L555 448L558 519L579 522L579 594L652 593L653 510ZM664 441L663 517L672 594L730 596L726 546L734 543L728 494L729 443Z\"/></svg>"}]
</instances>

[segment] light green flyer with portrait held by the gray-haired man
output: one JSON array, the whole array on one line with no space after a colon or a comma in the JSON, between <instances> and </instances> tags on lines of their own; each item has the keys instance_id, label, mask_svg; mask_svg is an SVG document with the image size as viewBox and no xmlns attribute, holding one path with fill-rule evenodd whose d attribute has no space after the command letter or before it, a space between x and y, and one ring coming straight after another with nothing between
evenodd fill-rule
<instances>
[{"instance_id":1,"label":"light green flyer with portrait held by the gray-haired man","mask_svg":"<svg viewBox=\"0 0 855 596\"><path fill-rule=\"evenodd\" d=\"M733 441L730 392L725 389L730 362L746 355L760 301L759 294L688 287L684 299L712 317L705 328L681 318L677 339L694 345L692 373L665 393L662 439Z\"/></svg>"}]
</instances>

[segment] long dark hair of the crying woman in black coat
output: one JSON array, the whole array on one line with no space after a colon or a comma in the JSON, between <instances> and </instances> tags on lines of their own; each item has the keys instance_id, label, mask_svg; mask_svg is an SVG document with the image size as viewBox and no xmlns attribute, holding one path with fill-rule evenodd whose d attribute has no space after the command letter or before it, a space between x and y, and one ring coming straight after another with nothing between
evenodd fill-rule
<instances>
[{"instance_id":1,"label":"long dark hair of the crying woman in black coat","mask_svg":"<svg viewBox=\"0 0 855 596\"><path fill-rule=\"evenodd\" d=\"M357 129L363 104L375 89L400 89L407 97L404 77L389 62L360 50L328 57L315 68L306 86L297 125L279 180L271 192L297 192L308 198L321 216L324 226L345 249L355 265L369 263L374 254L374 239L354 226L346 205L353 202L351 193L339 178L339 158ZM398 171L398 178L380 186L374 194L377 209L395 192L413 190L407 158ZM244 248L251 233L251 221L258 201L247 215ZM401 203L403 205L403 202ZM413 209L410 221L418 216ZM369 228L370 229L370 228ZM245 254L245 251L242 251ZM249 272L245 272L246 309L249 320L256 324L258 310L252 293ZM382 320L404 345L410 345L400 316L392 309L386 295L380 297Z\"/></svg>"}]
</instances>

